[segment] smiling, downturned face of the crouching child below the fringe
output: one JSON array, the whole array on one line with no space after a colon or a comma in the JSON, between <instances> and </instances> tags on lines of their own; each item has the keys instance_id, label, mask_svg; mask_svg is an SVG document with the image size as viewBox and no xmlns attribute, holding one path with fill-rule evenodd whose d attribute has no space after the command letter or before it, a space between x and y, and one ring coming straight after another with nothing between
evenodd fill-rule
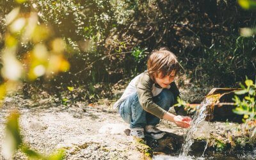
<instances>
[{"instance_id":1,"label":"smiling, downturned face of the crouching child below the fringe","mask_svg":"<svg viewBox=\"0 0 256 160\"><path fill-rule=\"evenodd\" d=\"M162 73L159 73L155 77L155 81L162 88L167 88L168 85L173 82L174 77L175 77L175 71L173 71L172 74L170 74L170 76L165 76L165 77L162 76Z\"/></svg>"}]
</instances>

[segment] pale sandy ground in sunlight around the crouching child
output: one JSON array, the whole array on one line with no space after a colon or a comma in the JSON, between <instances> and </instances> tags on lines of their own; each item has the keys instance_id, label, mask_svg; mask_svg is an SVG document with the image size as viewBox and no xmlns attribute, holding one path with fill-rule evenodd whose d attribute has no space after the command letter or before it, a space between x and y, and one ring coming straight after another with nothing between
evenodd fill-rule
<instances>
[{"instance_id":1,"label":"pale sandy ground in sunlight around the crouching child","mask_svg":"<svg viewBox=\"0 0 256 160\"><path fill-rule=\"evenodd\" d=\"M70 107L51 104L29 108L31 100L7 98L0 109L0 143L4 137L5 117L12 109L19 109L21 133L31 148L51 154L66 148L65 159L141 159L134 146L129 128L111 106L86 106L83 102ZM49 106L50 105L50 106ZM170 122L161 122L163 131L183 134L184 129ZM0 146L0 151L3 146ZM0 159L4 159L3 156ZM17 152L13 159L27 159Z\"/></svg>"}]
</instances>

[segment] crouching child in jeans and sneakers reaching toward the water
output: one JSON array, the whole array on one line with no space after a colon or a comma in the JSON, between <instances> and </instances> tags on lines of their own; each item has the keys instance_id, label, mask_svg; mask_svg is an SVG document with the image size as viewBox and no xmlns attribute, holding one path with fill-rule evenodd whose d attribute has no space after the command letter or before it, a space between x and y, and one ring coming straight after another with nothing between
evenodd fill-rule
<instances>
[{"instance_id":1,"label":"crouching child in jeans and sneakers reaching toward the water","mask_svg":"<svg viewBox=\"0 0 256 160\"><path fill-rule=\"evenodd\" d=\"M156 127L160 118L179 127L189 127L191 118L168 113L179 96L173 81L179 66L176 56L166 48L153 51L147 61L147 70L132 79L114 104L124 121L130 124L132 136L145 138L145 131L155 140L163 138L165 133Z\"/></svg>"}]
</instances>

